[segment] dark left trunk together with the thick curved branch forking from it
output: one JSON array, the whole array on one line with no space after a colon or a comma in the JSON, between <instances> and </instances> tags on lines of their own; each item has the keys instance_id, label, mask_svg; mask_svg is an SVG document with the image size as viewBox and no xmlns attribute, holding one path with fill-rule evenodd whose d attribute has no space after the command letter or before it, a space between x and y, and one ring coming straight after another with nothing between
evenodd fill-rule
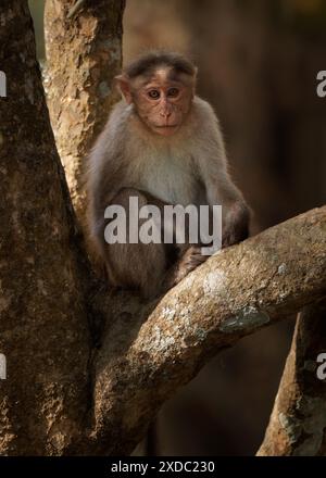
<instances>
[{"instance_id":1,"label":"dark left trunk together with the thick curved branch forking from it","mask_svg":"<svg viewBox=\"0 0 326 478\"><path fill-rule=\"evenodd\" d=\"M9 90L0 102L0 352L8 358L0 453L127 454L212 355L325 297L326 206L216 254L159 303L91 294L26 1L2 7L0 41ZM90 325L99 318L95 347Z\"/></svg>"}]
</instances>

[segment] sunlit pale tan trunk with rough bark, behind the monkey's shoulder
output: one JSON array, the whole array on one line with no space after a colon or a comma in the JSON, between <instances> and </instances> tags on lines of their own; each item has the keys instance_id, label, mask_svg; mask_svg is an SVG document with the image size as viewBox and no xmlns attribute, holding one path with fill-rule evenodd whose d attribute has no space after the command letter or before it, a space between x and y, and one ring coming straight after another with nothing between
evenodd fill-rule
<instances>
[{"instance_id":1,"label":"sunlit pale tan trunk with rough bark, behind the monkey's shoulder","mask_svg":"<svg viewBox=\"0 0 326 478\"><path fill-rule=\"evenodd\" d=\"M85 159L112 104L122 63L125 0L48 0L46 86L57 147L77 216L85 213Z\"/></svg>"}]
</instances>

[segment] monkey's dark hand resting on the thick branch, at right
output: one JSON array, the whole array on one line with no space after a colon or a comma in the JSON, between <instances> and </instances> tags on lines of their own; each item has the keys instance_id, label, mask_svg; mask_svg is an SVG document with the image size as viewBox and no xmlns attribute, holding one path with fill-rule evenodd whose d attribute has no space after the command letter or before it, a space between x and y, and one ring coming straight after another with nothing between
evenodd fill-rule
<instances>
[{"instance_id":1,"label":"monkey's dark hand resting on the thick branch, at right","mask_svg":"<svg viewBox=\"0 0 326 478\"><path fill-rule=\"evenodd\" d=\"M236 202L224 221L222 248L237 244L249 236L249 209L243 202Z\"/></svg>"}]
</instances>

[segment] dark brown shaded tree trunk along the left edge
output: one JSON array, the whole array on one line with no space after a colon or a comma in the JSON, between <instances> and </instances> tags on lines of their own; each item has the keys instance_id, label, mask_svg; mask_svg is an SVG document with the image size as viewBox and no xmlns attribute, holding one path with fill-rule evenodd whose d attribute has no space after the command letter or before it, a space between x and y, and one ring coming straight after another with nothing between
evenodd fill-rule
<instances>
[{"instance_id":1,"label":"dark brown shaded tree trunk along the left edge","mask_svg":"<svg viewBox=\"0 0 326 478\"><path fill-rule=\"evenodd\" d=\"M85 267L27 2L1 2L0 453L61 454L88 407Z\"/></svg>"}]
</instances>

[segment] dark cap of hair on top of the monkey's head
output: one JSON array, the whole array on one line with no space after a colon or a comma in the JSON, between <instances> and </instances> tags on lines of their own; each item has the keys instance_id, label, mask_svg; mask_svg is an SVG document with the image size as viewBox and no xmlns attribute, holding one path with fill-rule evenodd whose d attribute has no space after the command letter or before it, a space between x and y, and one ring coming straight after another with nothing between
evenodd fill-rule
<instances>
[{"instance_id":1,"label":"dark cap of hair on top of the monkey's head","mask_svg":"<svg viewBox=\"0 0 326 478\"><path fill-rule=\"evenodd\" d=\"M180 53L164 50L154 50L140 55L129 63L124 68L124 72L129 78L136 78L137 76L153 72L159 66L168 66L176 73L184 73L190 76L193 76L197 72L196 66Z\"/></svg>"}]
</instances>

